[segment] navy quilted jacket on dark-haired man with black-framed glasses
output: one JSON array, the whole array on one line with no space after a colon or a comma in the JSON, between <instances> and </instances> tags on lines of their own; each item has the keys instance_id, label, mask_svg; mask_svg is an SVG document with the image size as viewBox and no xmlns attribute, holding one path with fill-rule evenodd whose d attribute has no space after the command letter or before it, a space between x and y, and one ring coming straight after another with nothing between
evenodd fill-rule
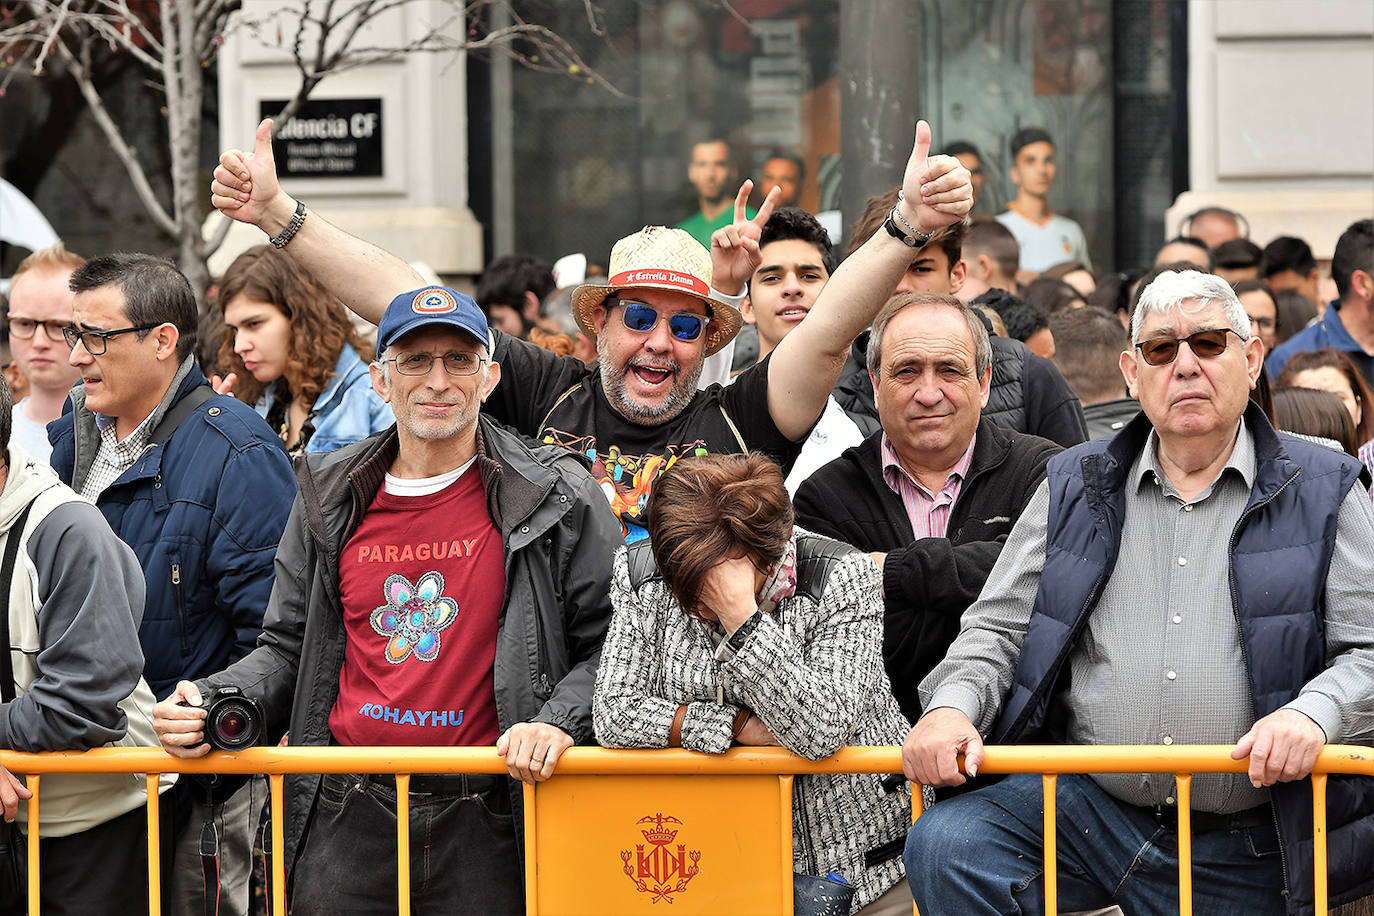
<instances>
[{"instance_id":1,"label":"navy quilted jacket on dark-haired man with black-framed glasses","mask_svg":"<svg viewBox=\"0 0 1374 916\"><path fill-rule=\"evenodd\" d=\"M169 413L207 386L194 361L179 375ZM85 389L74 387L70 404L48 424L49 460L69 486L77 471L81 481L88 477L100 448ZM225 394L198 405L100 492L96 507L133 548L147 580L139 641L154 696L253 650L293 499L282 439L253 408Z\"/></svg>"}]
</instances>

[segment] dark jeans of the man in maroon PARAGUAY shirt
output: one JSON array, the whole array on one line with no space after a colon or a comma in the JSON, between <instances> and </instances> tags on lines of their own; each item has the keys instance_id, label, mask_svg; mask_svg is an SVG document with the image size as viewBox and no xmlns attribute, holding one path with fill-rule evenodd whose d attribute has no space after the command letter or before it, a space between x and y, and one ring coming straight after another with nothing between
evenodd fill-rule
<instances>
[{"instance_id":1,"label":"dark jeans of the man in maroon PARAGUAY shirt","mask_svg":"<svg viewBox=\"0 0 1374 916\"><path fill-rule=\"evenodd\" d=\"M506 776L415 776L409 802L412 912L525 912ZM397 911L394 781L324 775L287 904L293 916Z\"/></svg>"}]
</instances>

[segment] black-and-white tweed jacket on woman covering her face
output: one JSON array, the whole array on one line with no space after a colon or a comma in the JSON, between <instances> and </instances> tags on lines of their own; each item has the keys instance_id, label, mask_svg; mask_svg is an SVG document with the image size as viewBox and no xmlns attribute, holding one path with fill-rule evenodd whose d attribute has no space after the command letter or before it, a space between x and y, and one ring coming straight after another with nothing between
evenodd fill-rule
<instances>
[{"instance_id":1,"label":"black-and-white tweed jacket on woman covering her face","mask_svg":"<svg viewBox=\"0 0 1374 916\"><path fill-rule=\"evenodd\" d=\"M798 530L796 595L750 618L741 628L747 636L730 643L732 655L720 654L725 661L673 599L647 541L616 552L611 604L592 698L606 747L666 747L680 705L683 747L710 754L730 747L742 706L809 759L907 736L882 666L881 575L852 547ZM903 879L905 781L888 788L868 773L801 776L794 786L798 873L840 872L856 889L856 911Z\"/></svg>"}]
</instances>

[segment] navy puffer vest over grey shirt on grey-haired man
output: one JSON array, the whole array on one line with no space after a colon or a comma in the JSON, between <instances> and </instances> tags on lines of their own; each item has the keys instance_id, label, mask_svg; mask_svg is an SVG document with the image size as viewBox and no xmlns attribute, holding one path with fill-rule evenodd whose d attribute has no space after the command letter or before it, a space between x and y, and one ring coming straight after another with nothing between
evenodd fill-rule
<instances>
[{"instance_id":1,"label":"navy puffer vest over grey shirt on grey-haired man","mask_svg":"<svg viewBox=\"0 0 1374 916\"><path fill-rule=\"evenodd\" d=\"M1231 597L1241 626L1254 717L1279 709L1326 667L1326 573L1341 501L1360 466L1320 445L1274 433L1253 404L1254 488L1231 542ZM1044 573L1011 692L992 743L1043 737L1051 698L1068 678L1068 659L1102 596L1121 544L1125 483L1145 448L1145 415L1116 438L1087 442L1050 460ZM1052 731L1052 729L1048 729ZM1292 913L1311 913L1311 781L1274 787ZM1327 783L1330 895L1337 904L1374 891L1374 779L1333 776Z\"/></svg>"}]
</instances>

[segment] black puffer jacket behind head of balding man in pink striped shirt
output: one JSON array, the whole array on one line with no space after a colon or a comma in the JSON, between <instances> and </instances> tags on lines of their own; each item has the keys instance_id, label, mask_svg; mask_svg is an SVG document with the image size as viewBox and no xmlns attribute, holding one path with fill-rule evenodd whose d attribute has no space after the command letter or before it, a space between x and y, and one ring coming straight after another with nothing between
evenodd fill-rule
<instances>
[{"instance_id":1,"label":"black puffer jacket behind head of balding man in pink striped shirt","mask_svg":"<svg viewBox=\"0 0 1374 916\"><path fill-rule=\"evenodd\" d=\"M989 335L992 390L982 416L1017 433L1029 433L1063 448L1088 441L1083 407L1059 368L1021 341ZM868 331L855 338L840 372L834 397L864 435L879 427L868 378Z\"/></svg>"}]
</instances>

